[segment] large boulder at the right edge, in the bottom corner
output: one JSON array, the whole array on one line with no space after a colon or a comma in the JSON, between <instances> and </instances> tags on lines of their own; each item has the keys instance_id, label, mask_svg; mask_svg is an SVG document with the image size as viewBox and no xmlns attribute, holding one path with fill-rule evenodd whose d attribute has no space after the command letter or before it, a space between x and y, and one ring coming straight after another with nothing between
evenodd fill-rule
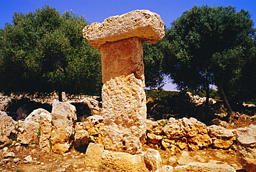
<instances>
[{"instance_id":1,"label":"large boulder at the right edge, in the bottom corner","mask_svg":"<svg viewBox=\"0 0 256 172\"><path fill-rule=\"evenodd\" d=\"M237 161L248 172L256 171L256 125L237 128Z\"/></svg>"}]
</instances>

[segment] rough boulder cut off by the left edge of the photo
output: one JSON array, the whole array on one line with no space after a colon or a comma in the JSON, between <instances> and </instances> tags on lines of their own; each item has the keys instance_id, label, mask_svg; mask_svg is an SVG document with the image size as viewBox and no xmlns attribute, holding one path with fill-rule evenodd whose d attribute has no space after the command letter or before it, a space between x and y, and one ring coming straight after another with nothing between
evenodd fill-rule
<instances>
[{"instance_id":1,"label":"rough boulder cut off by the left edge of the photo","mask_svg":"<svg viewBox=\"0 0 256 172\"><path fill-rule=\"evenodd\" d=\"M12 137L17 133L15 131L16 123L15 120L12 120L12 117L0 111L0 149L12 142Z\"/></svg>"}]
</instances>

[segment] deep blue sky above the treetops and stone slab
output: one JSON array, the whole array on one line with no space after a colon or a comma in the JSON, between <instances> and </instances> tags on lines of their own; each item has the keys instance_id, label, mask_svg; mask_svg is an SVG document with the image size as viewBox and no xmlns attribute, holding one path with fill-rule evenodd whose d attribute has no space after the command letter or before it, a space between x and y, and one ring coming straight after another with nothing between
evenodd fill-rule
<instances>
[{"instance_id":1,"label":"deep blue sky above the treetops and stone slab","mask_svg":"<svg viewBox=\"0 0 256 172\"><path fill-rule=\"evenodd\" d=\"M50 5L60 12L73 10L84 15L86 21L102 22L107 17L122 15L131 10L150 10L161 15L165 25L170 28L173 20L181 16L192 6L235 6L237 10L244 8L256 22L255 0L0 0L0 28L10 23L14 12L33 12L36 8ZM165 90L175 90L173 84L165 84Z\"/></svg>"}]
</instances>

